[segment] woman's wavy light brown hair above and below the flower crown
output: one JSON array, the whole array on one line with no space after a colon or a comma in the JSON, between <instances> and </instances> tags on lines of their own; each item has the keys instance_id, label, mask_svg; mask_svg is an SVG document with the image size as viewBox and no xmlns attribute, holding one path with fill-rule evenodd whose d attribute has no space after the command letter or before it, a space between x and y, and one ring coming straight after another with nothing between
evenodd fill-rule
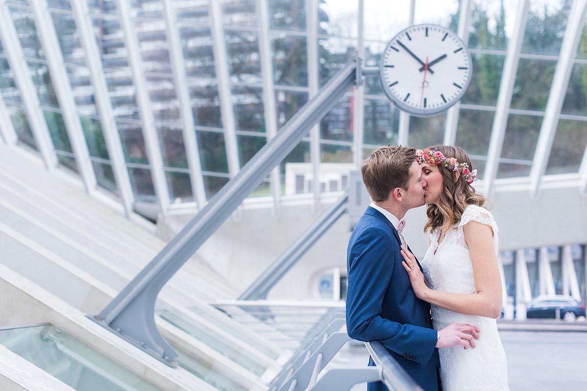
<instances>
[{"instance_id":1,"label":"woman's wavy light brown hair above and below the flower crown","mask_svg":"<svg viewBox=\"0 0 587 391\"><path fill-rule=\"evenodd\" d=\"M433 145L428 148L440 151L446 157L454 157L459 163L467 163L473 170L471 159L463 148L449 145ZM485 204L489 203L467 183L463 175L459 175L457 179L458 172L442 166L437 167L443 177L442 191L438 205L428 204L426 207L428 221L424 225L424 232L434 231L438 227L446 232L453 224L461 221L463 211L468 205L486 207Z\"/></svg>"}]
</instances>

